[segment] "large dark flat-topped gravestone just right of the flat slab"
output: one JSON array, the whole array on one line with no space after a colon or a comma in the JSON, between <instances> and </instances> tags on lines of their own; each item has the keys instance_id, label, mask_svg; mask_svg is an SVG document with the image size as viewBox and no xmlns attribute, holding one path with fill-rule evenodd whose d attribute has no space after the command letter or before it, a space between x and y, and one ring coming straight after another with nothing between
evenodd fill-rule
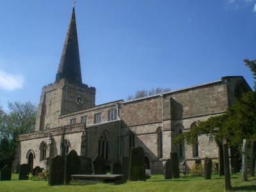
<instances>
[{"instance_id":1,"label":"large dark flat-topped gravestone just right of the flat slab","mask_svg":"<svg viewBox=\"0 0 256 192\"><path fill-rule=\"evenodd\" d=\"M144 150L142 147L131 148L129 180L146 180Z\"/></svg>"}]
</instances>

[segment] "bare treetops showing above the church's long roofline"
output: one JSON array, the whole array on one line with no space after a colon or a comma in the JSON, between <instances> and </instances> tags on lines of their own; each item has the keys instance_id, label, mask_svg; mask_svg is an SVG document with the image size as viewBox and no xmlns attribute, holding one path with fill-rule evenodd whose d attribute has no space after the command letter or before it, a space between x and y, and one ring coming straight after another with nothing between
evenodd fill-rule
<instances>
[{"instance_id":1,"label":"bare treetops showing above the church's long roofline","mask_svg":"<svg viewBox=\"0 0 256 192\"><path fill-rule=\"evenodd\" d=\"M170 92L170 88L157 87L157 88L152 88L151 90L140 90L140 91L136 92L134 95L128 95L126 100L139 99L142 97L157 95L157 94L161 94L164 92Z\"/></svg>"}]
</instances>

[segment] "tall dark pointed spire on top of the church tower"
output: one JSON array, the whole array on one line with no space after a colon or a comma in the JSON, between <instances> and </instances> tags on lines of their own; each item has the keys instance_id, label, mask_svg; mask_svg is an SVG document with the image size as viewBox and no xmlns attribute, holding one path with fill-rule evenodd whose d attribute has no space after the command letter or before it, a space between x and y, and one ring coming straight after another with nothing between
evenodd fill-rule
<instances>
[{"instance_id":1,"label":"tall dark pointed spire on top of the church tower","mask_svg":"<svg viewBox=\"0 0 256 192\"><path fill-rule=\"evenodd\" d=\"M73 6L72 16L68 26L55 82L60 81L60 79L82 83L75 6Z\"/></svg>"}]
</instances>

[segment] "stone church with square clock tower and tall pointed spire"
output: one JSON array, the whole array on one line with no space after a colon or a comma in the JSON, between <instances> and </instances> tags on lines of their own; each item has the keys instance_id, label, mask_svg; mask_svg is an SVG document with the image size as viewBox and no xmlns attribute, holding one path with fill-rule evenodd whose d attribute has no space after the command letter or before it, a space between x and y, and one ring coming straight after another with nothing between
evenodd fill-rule
<instances>
[{"instance_id":1,"label":"stone church with square clock tower and tall pointed spire","mask_svg":"<svg viewBox=\"0 0 256 192\"><path fill-rule=\"evenodd\" d=\"M175 136L193 129L198 120L221 115L236 97L250 86L242 76L221 77L211 83L134 100L115 100L95 105L96 88L81 76L75 9L68 26L54 83L42 88L35 131L19 136L13 168L28 163L30 168L49 168L49 136L53 156L70 150L107 164L129 157L131 147L143 147L145 163L152 173L163 172L170 152L188 165L205 157L218 159L218 148L206 135L198 143L173 143Z\"/></svg>"}]
</instances>

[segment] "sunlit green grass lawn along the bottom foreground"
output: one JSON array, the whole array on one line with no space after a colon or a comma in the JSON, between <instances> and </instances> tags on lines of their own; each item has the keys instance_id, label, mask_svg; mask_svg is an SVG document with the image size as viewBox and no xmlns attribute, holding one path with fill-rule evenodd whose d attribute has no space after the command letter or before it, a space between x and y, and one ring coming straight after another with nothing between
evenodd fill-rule
<instances>
[{"instance_id":1,"label":"sunlit green grass lawn along the bottom foreground","mask_svg":"<svg viewBox=\"0 0 256 192\"><path fill-rule=\"evenodd\" d=\"M231 183L234 191L256 191L256 177L249 177L242 182L241 175L232 175ZM152 175L146 182L127 182L125 184L70 184L48 186L47 181L17 180L12 175L11 181L0 181L0 191L225 191L224 177L212 175L211 180L204 177L181 177L180 179L164 180L163 175Z\"/></svg>"}]
</instances>

